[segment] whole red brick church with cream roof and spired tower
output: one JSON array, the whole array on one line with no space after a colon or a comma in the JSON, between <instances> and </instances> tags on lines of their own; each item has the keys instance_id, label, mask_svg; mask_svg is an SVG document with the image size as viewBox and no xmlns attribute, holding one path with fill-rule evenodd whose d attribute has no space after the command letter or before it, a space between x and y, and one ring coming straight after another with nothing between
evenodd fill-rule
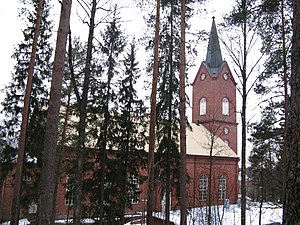
<instances>
[{"instance_id":1,"label":"whole red brick church with cream roof and spired tower","mask_svg":"<svg viewBox=\"0 0 300 225\"><path fill-rule=\"evenodd\" d=\"M187 130L186 168L188 207L211 204L232 204L238 198L236 83L226 61L222 59L217 29L213 18L207 55L199 67L193 82L192 130ZM145 173L146 171L142 171ZM0 221L9 219L13 193L13 179L8 176L0 185ZM72 207L72 200L66 198L67 175L62 175L58 187L57 216L66 218ZM146 210L146 184L139 184L138 178L131 178L140 190L138 196L130 199L131 212ZM28 178L27 182L31 182ZM210 185L210 188L209 188ZM163 200L161 188L157 188L155 208L161 211ZM209 195L210 190L210 195ZM171 208L178 207L175 197ZM29 207L32 213L36 207Z\"/></svg>"}]
</instances>

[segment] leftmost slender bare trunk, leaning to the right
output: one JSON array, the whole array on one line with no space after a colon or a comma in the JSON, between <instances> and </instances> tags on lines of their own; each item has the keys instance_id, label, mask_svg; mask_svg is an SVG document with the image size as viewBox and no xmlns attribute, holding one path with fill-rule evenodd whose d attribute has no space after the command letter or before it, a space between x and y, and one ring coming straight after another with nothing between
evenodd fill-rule
<instances>
[{"instance_id":1,"label":"leftmost slender bare trunk, leaning to the right","mask_svg":"<svg viewBox=\"0 0 300 225\"><path fill-rule=\"evenodd\" d=\"M12 225L19 224L20 197L21 197L21 186L22 186L23 163L24 163L24 155L25 155L25 147L26 147L26 131L27 131L28 113L29 113L29 105L30 105L30 94L32 88L37 41L38 41L41 19L42 19L43 4L44 1L40 0L38 10L37 10L37 18L36 18L34 37L32 43L32 51L30 56L29 68L28 68L27 85L26 85L25 96L24 96L21 132L19 137L19 151L18 151L18 158L17 158L14 192L12 198L11 217L10 217L10 221Z\"/></svg>"}]
</instances>

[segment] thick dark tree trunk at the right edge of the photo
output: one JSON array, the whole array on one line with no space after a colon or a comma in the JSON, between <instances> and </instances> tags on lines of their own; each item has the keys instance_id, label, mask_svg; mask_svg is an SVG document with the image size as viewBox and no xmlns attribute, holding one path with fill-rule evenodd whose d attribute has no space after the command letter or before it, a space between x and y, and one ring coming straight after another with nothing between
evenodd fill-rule
<instances>
[{"instance_id":1,"label":"thick dark tree trunk at the right edge of the photo","mask_svg":"<svg viewBox=\"0 0 300 225\"><path fill-rule=\"evenodd\" d=\"M285 225L300 224L300 2L293 0L291 97L288 122Z\"/></svg>"}]
</instances>

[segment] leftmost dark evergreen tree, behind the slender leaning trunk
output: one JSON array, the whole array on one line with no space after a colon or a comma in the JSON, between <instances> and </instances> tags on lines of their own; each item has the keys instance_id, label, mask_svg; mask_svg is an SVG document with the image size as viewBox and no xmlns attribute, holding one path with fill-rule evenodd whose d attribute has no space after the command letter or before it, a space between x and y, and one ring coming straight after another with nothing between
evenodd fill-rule
<instances>
[{"instance_id":1,"label":"leftmost dark evergreen tree, behind the slender leaning trunk","mask_svg":"<svg viewBox=\"0 0 300 225\"><path fill-rule=\"evenodd\" d=\"M12 74L12 81L5 87L5 99L2 102L2 113L5 116L4 127L2 129L2 132L4 133L4 154L3 159L1 160L3 162L3 176L6 175L8 170L12 169L11 166L15 162L20 136L21 115L22 113L23 115L24 113L28 113L28 121L25 119L22 122L24 136L20 137L20 140L24 141L22 141L22 147L21 145L19 146L21 155L19 155L18 159L21 161L18 161L17 174L15 176L12 224L16 224L18 221L18 196L21 195L20 186L22 186L21 205L24 208L28 208L29 205L37 203L37 188L40 174L38 168L41 168L41 148L43 147L46 108L48 104L47 84L50 77L50 58L52 55L52 47L50 45L52 22L49 21L50 5L49 1L43 1L41 7L42 13L41 15L38 15L39 2L41 1L24 1L24 8L21 12L22 16L24 16L27 21L28 27L23 30L24 40L17 45L15 53L12 56L12 58L16 60L16 65L14 67L14 73ZM34 51L33 40L35 36L35 27L37 26L37 18L39 16L41 16L41 23L39 33L35 37L37 46L34 66L35 70L33 70L33 65L30 65L30 56L33 55L31 52ZM31 70L31 72L34 71L32 87L30 75L28 76L29 70ZM27 77L28 84L26 84ZM31 89L31 91L26 91L28 98L25 100L24 93L26 85L28 86L27 89ZM23 101L27 101L28 103L24 109ZM22 112L23 110L27 111L27 106L29 108L28 112ZM24 124L27 123L27 127L24 126ZM22 162L22 152L25 152L24 165ZM11 164L12 162L13 164ZM22 171L24 171L23 175L30 177L30 182L28 182L28 180L22 181Z\"/></svg>"}]
</instances>

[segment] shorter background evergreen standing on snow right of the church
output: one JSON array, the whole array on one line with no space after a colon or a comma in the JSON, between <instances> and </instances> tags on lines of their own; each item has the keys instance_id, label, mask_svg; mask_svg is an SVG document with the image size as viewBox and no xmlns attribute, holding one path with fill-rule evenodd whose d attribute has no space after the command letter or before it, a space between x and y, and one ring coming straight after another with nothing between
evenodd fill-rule
<instances>
[{"instance_id":1,"label":"shorter background evergreen standing on snow right of the church","mask_svg":"<svg viewBox=\"0 0 300 225\"><path fill-rule=\"evenodd\" d=\"M250 141L253 149L249 157L251 163L250 172L257 195L253 196L256 201L283 201L282 182L282 146L283 127L281 121L276 119L277 113L274 108L282 108L282 104L273 103L262 111L260 122L252 124ZM251 193L249 193L251 194Z\"/></svg>"}]
</instances>

